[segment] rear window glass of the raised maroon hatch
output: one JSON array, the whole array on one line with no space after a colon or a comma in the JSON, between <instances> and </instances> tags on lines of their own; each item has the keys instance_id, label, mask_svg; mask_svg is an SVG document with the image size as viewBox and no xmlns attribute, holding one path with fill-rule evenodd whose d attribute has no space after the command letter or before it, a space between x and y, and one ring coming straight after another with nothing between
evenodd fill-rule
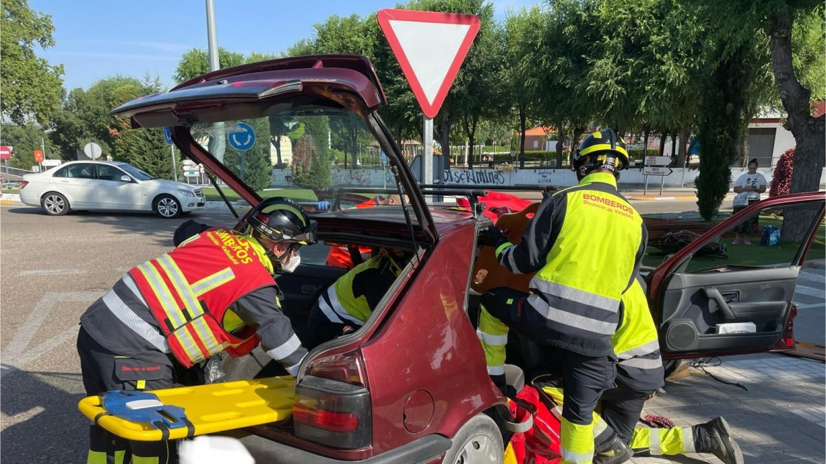
<instances>
[{"instance_id":1,"label":"rear window glass of the raised maroon hatch","mask_svg":"<svg viewBox=\"0 0 826 464\"><path fill-rule=\"evenodd\" d=\"M292 108L191 132L262 198L286 196L310 213L400 206L387 157L354 111Z\"/></svg>"}]
</instances>

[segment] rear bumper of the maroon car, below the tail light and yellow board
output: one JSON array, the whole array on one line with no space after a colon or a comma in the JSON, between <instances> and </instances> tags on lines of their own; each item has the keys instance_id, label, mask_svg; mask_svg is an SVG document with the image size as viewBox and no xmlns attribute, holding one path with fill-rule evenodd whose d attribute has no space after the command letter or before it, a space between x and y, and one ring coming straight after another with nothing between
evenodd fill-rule
<instances>
[{"instance_id":1,"label":"rear bumper of the maroon car, below the tail light and yellow board","mask_svg":"<svg viewBox=\"0 0 826 464\"><path fill-rule=\"evenodd\" d=\"M252 433L236 431L231 436L239 438L255 458L255 462L279 462L282 464L396 464L397 462L441 462L444 452L453 443L441 435L428 435L414 442L361 461L341 461L291 447Z\"/></svg>"}]
</instances>

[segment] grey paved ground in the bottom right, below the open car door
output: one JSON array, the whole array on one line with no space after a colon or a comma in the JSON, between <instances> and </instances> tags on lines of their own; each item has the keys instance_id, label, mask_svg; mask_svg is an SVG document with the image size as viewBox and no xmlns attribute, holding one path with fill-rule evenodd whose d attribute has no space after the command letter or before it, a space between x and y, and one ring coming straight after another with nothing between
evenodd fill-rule
<instances>
[{"instance_id":1,"label":"grey paved ground in the bottom right, below the open car door","mask_svg":"<svg viewBox=\"0 0 826 464\"><path fill-rule=\"evenodd\" d=\"M665 393L645 404L645 412L672 419L677 426L701 424L719 415L733 428L745 462L824 462L824 363L781 354L723 357L717 367L705 369L724 381L715 381L698 369L667 381ZM710 454L685 457L634 457L635 464L720 461Z\"/></svg>"}]
</instances>

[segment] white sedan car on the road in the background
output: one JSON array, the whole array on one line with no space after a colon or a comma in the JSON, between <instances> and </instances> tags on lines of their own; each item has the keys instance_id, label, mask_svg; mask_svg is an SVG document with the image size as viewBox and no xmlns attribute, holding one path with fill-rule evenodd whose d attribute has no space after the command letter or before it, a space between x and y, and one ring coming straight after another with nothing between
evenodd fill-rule
<instances>
[{"instance_id":1,"label":"white sedan car on the road in the background","mask_svg":"<svg viewBox=\"0 0 826 464\"><path fill-rule=\"evenodd\" d=\"M157 179L129 163L72 161L45 173L26 174L20 200L49 215L73 210L154 211L164 218L201 209L202 189Z\"/></svg>"}]
</instances>

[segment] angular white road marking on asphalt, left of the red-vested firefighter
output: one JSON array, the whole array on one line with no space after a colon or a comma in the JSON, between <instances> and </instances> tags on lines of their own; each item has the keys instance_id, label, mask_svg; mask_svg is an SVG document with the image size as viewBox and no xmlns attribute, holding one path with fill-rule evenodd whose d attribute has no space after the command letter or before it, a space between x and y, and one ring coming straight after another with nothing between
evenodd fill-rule
<instances>
[{"instance_id":1,"label":"angular white road marking on asphalt, left of the red-vested firefighter","mask_svg":"<svg viewBox=\"0 0 826 464\"><path fill-rule=\"evenodd\" d=\"M31 339L43 325L47 316L55 309L59 309L60 303L66 301L95 301L102 295L101 291L47 291L34 309L29 313L29 318L17 329L14 339L6 345L6 349L0 353L4 367L21 367L26 363L36 360L38 357L50 352L52 349L65 343L67 340L76 337L78 325L73 324L68 329L55 335L51 339L34 347L29 347Z\"/></svg>"}]
</instances>

